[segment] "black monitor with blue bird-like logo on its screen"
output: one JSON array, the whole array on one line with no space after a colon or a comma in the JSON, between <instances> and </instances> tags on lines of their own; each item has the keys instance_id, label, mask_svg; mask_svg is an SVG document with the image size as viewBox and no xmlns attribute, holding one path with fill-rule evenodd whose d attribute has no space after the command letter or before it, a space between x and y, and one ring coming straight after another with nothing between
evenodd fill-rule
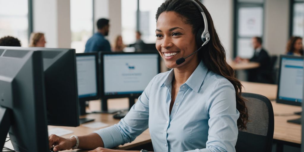
<instances>
[{"instance_id":1,"label":"black monitor with blue bird-like logo on its screen","mask_svg":"<svg viewBox=\"0 0 304 152\"><path fill-rule=\"evenodd\" d=\"M141 95L151 79L160 73L158 52L109 53L102 52L101 59L101 98L102 111L107 111L108 98L130 99Z\"/></svg>"}]
</instances>

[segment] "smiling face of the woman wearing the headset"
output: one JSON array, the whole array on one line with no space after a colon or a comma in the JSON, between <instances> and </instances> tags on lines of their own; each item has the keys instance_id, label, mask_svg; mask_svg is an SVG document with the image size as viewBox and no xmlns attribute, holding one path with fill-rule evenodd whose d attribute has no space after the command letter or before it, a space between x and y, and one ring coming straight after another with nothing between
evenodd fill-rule
<instances>
[{"instance_id":1,"label":"smiling face of the woman wearing the headset","mask_svg":"<svg viewBox=\"0 0 304 152\"><path fill-rule=\"evenodd\" d=\"M188 67L199 63L198 53L188 57L180 65L175 63L179 58L186 57L197 49L192 26L183 20L185 18L176 12L169 11L161 13L156 23L156 49L168 68Z\"/></svg>"}]
</instances>

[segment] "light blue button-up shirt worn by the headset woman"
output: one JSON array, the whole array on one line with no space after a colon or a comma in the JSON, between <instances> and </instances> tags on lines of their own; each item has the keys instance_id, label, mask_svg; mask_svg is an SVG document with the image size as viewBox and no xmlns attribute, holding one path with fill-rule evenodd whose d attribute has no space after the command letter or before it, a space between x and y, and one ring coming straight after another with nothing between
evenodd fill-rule
<instances>
[{"instance_id":1,"label":"light blue button-up shirt worn by the headset woman","mask_svg":"<svg viewBox=\"0 0 304 152\"><path fill-rule=\"evenodd\" d=\"M133 141L149 127L154 151L235 151L240 113L233 85L201 61L180 86L171 115L174 71L157 74L118 124L95 131L112 148Z\"/></svg>"}]
</instances>

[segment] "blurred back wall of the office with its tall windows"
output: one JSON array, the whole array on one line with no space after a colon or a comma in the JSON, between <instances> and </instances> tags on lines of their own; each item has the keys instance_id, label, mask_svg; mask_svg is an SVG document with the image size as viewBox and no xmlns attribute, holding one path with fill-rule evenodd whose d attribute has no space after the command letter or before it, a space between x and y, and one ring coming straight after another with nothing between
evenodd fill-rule
<instances>
[{"instance_id":1,"label":"blurred back wall of the office with its tall windows","mask_svg":"<svg viewBox=\"0 0 304 152\"><path fill-rule=\"evenodd\" d=\"M201 0L211 13L227 59L250 57L252 36L263 37L271 55L283 54L290 36L303 36L303 0ZM145 43L155 43L155 13L164 0L0 0L0 37L11 35L27 47L31 32L43 32L46 47L84 51L87 39L96 32L95 21L110 19L108 39L117 35L135 42L135 31ZM220 5L219 5L220 4ZM250 16L250 12L252 13ZM248 14L246 16L246 14ZM246 17L256 19L255 32L247 32Z\"/></svg>"}]
</instances>

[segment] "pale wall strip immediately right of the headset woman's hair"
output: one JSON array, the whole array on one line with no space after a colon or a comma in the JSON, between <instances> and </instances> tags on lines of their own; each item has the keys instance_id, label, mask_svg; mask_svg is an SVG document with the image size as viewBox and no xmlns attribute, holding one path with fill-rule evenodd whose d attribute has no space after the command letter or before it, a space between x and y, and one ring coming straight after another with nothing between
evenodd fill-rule
<instances>
[{"instance_id":1,"label":"pale wall strip immediately right of the headset woman's hair","mask_svg":"<svg viewBox=\"0 0 304 152\"><path fill-rule=\"evenodd\" d=\"M211 14L216 32L226 50L226 58L233 56L233 0L204 0Z\"/></svg>"}]
</instances>

